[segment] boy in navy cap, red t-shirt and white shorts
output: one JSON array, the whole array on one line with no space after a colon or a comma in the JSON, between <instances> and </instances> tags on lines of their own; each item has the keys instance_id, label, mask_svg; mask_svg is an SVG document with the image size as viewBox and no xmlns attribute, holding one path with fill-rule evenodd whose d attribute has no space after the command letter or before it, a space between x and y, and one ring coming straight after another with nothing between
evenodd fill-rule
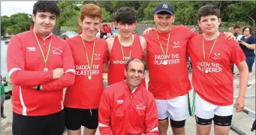
<instances>
[{"instance_id":1,"label":"boy in navy cap, red t-shirt and white shorts","mask_svg":"<svg viewBox=\"0 0 256 135\"><path fill-rule=\"evenodd\" d=\"M168 118L173 134L185 134L188 116L188 79L186 45L194 35L186 26L172 26L173 6L164 2L155 7L156 31L144 35L147 42L149 91L158 107L160 134L167 134Z\"/></svg>"}]
</instances>

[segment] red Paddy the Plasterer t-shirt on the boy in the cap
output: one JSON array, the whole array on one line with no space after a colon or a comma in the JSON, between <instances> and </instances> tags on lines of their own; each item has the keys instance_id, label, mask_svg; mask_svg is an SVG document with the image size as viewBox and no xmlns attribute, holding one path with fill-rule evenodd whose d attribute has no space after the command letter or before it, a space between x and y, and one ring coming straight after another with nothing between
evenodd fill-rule
<instances>
[{"instance_id":1,"label":"red Paddy the Plasterer t-shirt on the boy in the cap","mask_svg":"<svg viewBox=\"0 0 256 135\"><path fill-rule=\"evenodd\" d=\"M147 64L149 65L149 91L156 99L172 99L188 93L191 84L188 79L186 46L194 31L186 26L172 26L167 33L158 33L164 52L167 48L168 34L170 41L167 52L168 64L158 42L157 31L145 35L147 42Z\"/></svg>"}]
</instances>

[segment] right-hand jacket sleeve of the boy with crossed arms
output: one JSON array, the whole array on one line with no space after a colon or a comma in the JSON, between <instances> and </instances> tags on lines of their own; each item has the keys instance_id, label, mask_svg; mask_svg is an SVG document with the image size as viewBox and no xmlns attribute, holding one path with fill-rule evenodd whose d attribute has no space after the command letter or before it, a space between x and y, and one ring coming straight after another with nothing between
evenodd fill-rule
<instances>
[{"instance_id":1,"label":"right-hand jacket sleeve of the boy with crossed arms","mask_svg":"<svg viewBox=\"0 0 256 135\"><path fill-rule=\"evenodd\" d=\"M50 81L49 83L44 83L42 85L43 91L62 90L74 84L74 59L72 57L71 49L66 42L62 53L62 68L65 71L65 74L57 80Z\"/></svg>"}]
</instances>

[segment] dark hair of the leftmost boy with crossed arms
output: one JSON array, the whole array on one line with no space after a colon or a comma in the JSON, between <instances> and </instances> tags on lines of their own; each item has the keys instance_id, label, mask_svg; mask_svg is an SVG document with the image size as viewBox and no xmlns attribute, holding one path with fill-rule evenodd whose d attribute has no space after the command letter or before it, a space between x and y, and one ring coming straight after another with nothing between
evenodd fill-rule
<instances>
[{"instance_id":1,"label":"dark hair of the leftmost boy with crossed arms","mask_svg":"<svg viewBox=\"0 0 256 135\"><path fill-rule=\"evenodd\" d=\"M33 7L33 13L36 15L38 12L50 12L59 17L59 7L56 1L37 1Z\"/></svg>"}]
</instances>

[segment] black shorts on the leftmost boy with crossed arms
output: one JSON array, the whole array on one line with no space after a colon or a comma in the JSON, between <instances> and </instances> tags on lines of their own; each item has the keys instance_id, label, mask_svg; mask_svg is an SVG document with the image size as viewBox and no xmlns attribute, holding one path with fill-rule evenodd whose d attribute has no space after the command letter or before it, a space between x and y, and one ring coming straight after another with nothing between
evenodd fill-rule
<instances>
[{"instance_id":1,"label":"black shorts on the leftmost boy with crossed arms","mask_svg":"<svg viewBox=\"0 0 256 135\"><path fill-rule=\"evenodd\" d=\"M64 111L42 116L13 113L13 135L62 135L64 118Z\"/></svg>"}]
</instances>

